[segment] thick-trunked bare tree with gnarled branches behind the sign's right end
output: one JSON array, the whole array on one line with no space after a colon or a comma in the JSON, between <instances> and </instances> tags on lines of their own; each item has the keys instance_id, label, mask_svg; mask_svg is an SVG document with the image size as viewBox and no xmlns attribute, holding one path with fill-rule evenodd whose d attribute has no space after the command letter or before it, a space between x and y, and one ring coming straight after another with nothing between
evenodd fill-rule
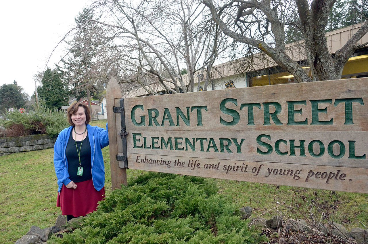
<instances>
[{"instance_id":1,"label":"thick-trunked bare tree with gnarled branches behind the sign's right end","mask_svg":"<svg viewBox=\"0 0 368 244\"><path fill-rule=\"evenodd\" d=\"M203 0L213 20L223 33L235 41L266 53L277 65L294 75L298 82L335 80L342 75L347 60L354 51L368 43L357 42L368 32L368 21L330 55L325 37L330 9L336 0L231 0L216 8L212 0ZM285 29L292 13L297 11L305 55L311 66L311 77L290 56L285 45ZM229 21L231 20L231 21ZM232 24L228 24L228 23Z\"/></svg>"}]
</instances>

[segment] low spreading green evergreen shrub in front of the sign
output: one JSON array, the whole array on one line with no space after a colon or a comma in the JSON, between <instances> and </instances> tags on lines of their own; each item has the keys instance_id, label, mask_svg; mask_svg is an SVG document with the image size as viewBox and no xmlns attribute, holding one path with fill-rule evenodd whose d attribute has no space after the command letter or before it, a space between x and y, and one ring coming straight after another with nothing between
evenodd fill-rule
<instances>
[{"instance_id":1,"label":"low spreading green evergreen shrub in front of the sign","mask_svg":"<svg viewBox=\"0 0 368 244\"><path fill-rule=\"evenodd\" d=\"M48 243L259 243L213 180L174 174L142 175L114 190L79 229Z\"/></svg>"}]
</instances>

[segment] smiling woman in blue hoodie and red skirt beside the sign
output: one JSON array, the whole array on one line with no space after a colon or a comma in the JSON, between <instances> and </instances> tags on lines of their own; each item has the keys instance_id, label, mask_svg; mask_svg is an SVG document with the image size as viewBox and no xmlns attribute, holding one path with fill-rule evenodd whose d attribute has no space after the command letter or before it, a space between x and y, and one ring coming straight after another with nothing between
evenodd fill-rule
<instances>
[{"instance_id":1,"label":"smiling woman in blue hoodie and red skirt beside the sign","mask_svg":"<svg viewBox=\"0 0 368 244\"><path fill-rule=\"evenodd\" d=\"M70 127L62 130L54 146L54 166L59 185L56 206L67 221L96 210L105 195L103 147L109 144L107 130L89 125L87 105L72 104L67 111Z\"/></svg>"}]
</instances>

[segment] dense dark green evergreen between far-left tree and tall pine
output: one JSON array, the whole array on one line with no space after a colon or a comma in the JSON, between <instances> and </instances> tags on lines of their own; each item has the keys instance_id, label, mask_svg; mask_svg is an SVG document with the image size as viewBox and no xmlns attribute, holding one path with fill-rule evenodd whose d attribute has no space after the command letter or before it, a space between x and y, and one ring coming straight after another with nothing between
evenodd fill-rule
<instances>
[{"instance_id":1,"label":"dense dark green evergreen between far-left tree and tall pine","mask_svg":"<svg viewBox=\"0 0 368 244\"><path fill-rule=\"evenodd\" d=\"M67 90L62 82L61 72L57 69L47 68L42 77L42 86L37 88L38 95L45 100L47 108L61 109L61 106L68 105Z\"/></svg>"}]
</instances>

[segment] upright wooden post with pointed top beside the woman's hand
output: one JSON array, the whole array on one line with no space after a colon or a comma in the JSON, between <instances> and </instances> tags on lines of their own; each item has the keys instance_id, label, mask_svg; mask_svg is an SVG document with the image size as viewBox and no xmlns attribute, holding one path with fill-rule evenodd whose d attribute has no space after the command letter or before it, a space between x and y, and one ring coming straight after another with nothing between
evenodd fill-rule
<instances>
[{"instance_id":1,"label":"upright wooden post with pointed top beside the woman's hand","mask_svg":"<svg viewBox=\"0 0 368 244\"><path fill-rule=\"evenodd\" d=\"M110 149L110 170L111 170L111 185L112 189L121 188L121 184L127 185L127 172L125 168L120 168L116 155L118 154L117 147L117 121L116 115L113 112L115 98L121 98L120 86L116 79L112 77L106 88L106 109L107 122L109 127L109 149Z\"/></svg>"}]
</instances>

